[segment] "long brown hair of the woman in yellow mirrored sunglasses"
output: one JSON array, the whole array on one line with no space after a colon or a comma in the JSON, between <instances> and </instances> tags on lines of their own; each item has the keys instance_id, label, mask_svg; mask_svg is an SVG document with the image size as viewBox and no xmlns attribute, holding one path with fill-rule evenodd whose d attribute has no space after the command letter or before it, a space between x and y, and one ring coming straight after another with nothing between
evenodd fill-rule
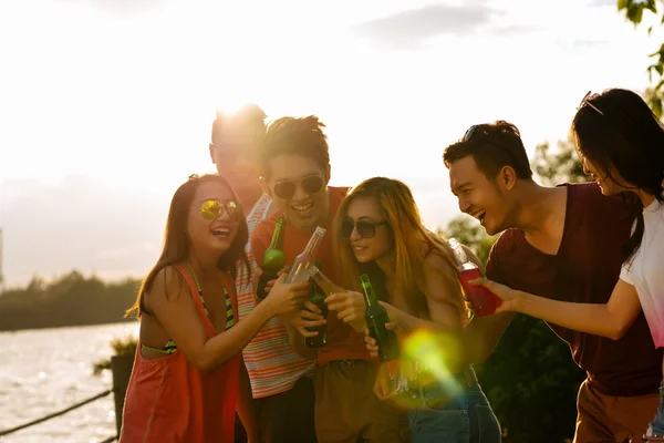
<instances>
[{"instance_id":1,"label":"long brown hair of the woman in yellow mirrored sunglasses","mask_svg":"<svg viewBox=\"0 0 664 443\"><path fill-rule=\"evenodd\" d=\"M235 202L239 202L237 194L228 183L228 181L217 174L206 175L191 175L187 182L185 182L175 192L173 199L170 200L170 209L168 209L168 218L166 219L166 230L164 233L164 246L162 248L162 255L157 260L157 264L151 269L143 280L141 288L138 289L138 296L134 305L127 309L125 317L132 312L136 312L137 317L141 317L142 312L148 312L145 308L144 296L145 292L149 291L155 278L159 271L166 267L183 264L189 256L191 247L189 237L187 235L187 220L191 208L191 202L196 195L198 186L203 183L219 183L226 186ZM238 233L230 244L230 247L219 257L217 267L229 276L235 278L236 266L246 266L247 270L250 269L247 254L245 253L245 246L249 239L249 229L247 227L247 220L243 216L238 217L239 226ZM180 278L179 272L176 276ZM181 281L180 281L181 282Z\"/></svg>"}]
</instances>

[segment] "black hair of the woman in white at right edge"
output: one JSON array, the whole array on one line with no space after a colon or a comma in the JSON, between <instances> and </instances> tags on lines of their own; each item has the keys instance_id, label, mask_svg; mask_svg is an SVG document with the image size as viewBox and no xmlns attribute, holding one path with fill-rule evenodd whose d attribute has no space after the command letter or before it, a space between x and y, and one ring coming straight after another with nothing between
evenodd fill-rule
<instances>
[{"instance_id":1,"label":"black hair of the woman in white at right edge","mask_svg":"<svg viewBox=\"0 0 664 443\"><path fill-rule=\"evenodd\" d=\"M642 189L664 202L664 127L636 93L611 89L591 96L577 112L572 134L581 154L606 177L624 188ZM627 183L615 179L612 171ZM623 246L625 261L641 246L643 231L641 212L634 233Z\"/></svg>"}]
</instances>

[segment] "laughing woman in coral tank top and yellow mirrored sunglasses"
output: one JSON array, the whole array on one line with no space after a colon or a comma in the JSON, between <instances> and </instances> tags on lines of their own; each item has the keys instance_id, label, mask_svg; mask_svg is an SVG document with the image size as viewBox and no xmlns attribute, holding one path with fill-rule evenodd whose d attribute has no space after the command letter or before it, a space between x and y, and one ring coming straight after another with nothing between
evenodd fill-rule
<instances>
[{"instance_id":1,"label":"laughing woman in coral tank top and yellow mirrored sunglasses","mask_svg":"<svg viewBox=\"0 0 664 443\"><path fill-rule=\"evenodd\" d=\"M141 333L121 442L234 442L240 352L309 284L280 277L237 322L236 262L248 266L238 198L218 175L191 176L173 196L164 248L134 306Z\"/></svg>"}]
</instances>

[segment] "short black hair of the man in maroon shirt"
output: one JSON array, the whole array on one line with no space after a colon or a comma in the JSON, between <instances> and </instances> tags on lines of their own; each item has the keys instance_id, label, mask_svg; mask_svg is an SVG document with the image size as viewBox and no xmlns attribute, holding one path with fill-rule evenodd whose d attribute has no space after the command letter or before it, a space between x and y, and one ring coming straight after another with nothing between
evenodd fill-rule
<instances>
[{"instance_id":1,"label":"short black hair of the man in maroon shirt","mask_svg":"<svg viewBox=\"0 0 664 443\"><path fill-rule=\"evenodd\" d=\"M449 168L450 163L468 155L490 179L495 179L505 166L515 169L519 178L532 178L519 130L502 120L471 126L463 140L445 148L443 162Z\"/></svg>"}]
</instances>

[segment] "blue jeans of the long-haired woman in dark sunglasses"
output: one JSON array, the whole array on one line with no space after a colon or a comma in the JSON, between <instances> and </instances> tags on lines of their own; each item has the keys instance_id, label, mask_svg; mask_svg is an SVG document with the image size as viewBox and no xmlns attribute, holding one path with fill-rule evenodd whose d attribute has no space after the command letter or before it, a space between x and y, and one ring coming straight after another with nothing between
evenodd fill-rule
<instances>
[{"instance_id":1,"label":"blue jeans of the long-haired woman in dark sunglasses","mask_svg":"<svg viewBox=\"0 0 664 443\"><path fill-rule=\"evenodd\" d=\"M417 396L422 405L408 411L412 443L500 443L500 424L478 383L452 398L433 383Z\"/></svg>"}]
</instances>

